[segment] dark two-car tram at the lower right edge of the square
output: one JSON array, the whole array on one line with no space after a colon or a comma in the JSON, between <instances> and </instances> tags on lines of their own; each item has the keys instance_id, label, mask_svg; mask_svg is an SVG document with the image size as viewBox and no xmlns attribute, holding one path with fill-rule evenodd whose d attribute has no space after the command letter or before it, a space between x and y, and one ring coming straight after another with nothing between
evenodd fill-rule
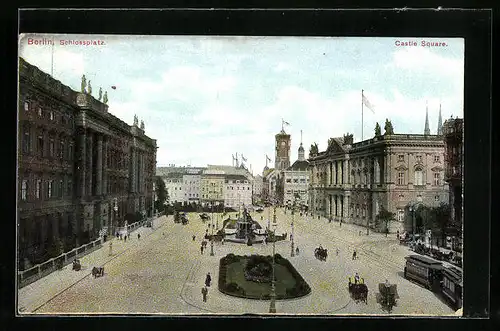
<instances>
[{"instance_id":1,"label":"dark two-car tram at the lower right edge of the square","mask_svg":"<svg viewBox=\"0 0 500 331\"><path fill-rule=\"evenodd\" d=\"M462 307L462 271L427 256L406 257L404 277L440 293L455 309Z\"/></svg>"}]
</instances>

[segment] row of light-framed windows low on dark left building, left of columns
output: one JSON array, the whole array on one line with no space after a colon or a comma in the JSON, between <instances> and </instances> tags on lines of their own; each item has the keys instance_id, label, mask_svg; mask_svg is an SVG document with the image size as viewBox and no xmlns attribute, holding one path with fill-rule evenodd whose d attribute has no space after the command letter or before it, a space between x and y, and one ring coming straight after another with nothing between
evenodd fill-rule
<instances>
[{"instance_id":1,"label":"row of light-framed windows low on dark left building, left of columns","mask_svg":"<svg viewBox=\"0 0 500 331\"><path fill-rule=\"evenodd\" d=\"M63 179L48 179L48 180L21 180L21 200L27 201L32 198L52 199L71 196L73 190L73 182L70 179L66 180L66 185Z\"/></svg>"}]
</instances>

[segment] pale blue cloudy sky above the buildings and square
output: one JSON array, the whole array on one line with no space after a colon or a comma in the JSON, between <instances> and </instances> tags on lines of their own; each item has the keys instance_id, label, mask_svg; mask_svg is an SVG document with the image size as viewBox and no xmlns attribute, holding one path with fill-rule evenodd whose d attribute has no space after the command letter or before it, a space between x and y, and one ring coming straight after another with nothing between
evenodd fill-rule
<instances>
[{"instance_id":1,"label":"pale blue cloudy sky above the buildings and square","mask_svg":"<svg viewBox=\"0 0 500 331\"><path fill-rule=\"evenodd\" d=\"M363 107L364 140L376 122L383 133L386 118L395 133L422 134L426 107L432 134L440 105L443 122L463 118L461 38L25 34L19 56L77 91L85 74L96 99L102 87L110 113L144 121L157 140L157 166L231 165L238 153L261 173L266 154L274 165L282 120L292 163L301 130L306 157L330 137L361 141L362 90L373 108Z\"/></svg>"}]
</instances>

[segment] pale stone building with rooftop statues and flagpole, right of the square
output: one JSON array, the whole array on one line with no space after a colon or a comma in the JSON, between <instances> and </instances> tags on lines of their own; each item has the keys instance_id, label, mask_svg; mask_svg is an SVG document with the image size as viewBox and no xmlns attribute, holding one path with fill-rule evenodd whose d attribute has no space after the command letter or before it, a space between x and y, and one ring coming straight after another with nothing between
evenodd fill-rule
<instances>
[{"instance_id":1,"label":"pale stone building with rooftop statues and flagpole, right of the square","mask_svg":"<svg viewBox=\"0 0 500 331\"><path fill-rule=\"evenodd\" d=\"M312 146L310 210L374 227L383 206L397 218L390 231L413 231L416 205L448 201L444 143L441 136L426 133L386 134L358 143L345 135L331 138L324 152Z\"/></svg>"}]
</instances>

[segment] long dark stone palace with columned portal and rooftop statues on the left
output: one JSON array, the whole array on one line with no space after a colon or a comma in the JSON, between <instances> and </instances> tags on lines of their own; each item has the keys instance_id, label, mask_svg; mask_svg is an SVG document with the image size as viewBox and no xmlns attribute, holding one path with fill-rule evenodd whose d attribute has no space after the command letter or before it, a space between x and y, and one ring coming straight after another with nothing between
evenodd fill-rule
<instances>
[{"instance_id":1,"label":"long dark stone palace with columned portal and rooftop statues on the left","mask_svg":"<svg viewBox=\"0 0 500 331\"><path fill-rule=\"evenodd\" d=\"M98 236L127 214L151 211L156 141L19 60L20 267ZM116 208L115 208L116 206Z\"/></svg>"}]
</instances>

